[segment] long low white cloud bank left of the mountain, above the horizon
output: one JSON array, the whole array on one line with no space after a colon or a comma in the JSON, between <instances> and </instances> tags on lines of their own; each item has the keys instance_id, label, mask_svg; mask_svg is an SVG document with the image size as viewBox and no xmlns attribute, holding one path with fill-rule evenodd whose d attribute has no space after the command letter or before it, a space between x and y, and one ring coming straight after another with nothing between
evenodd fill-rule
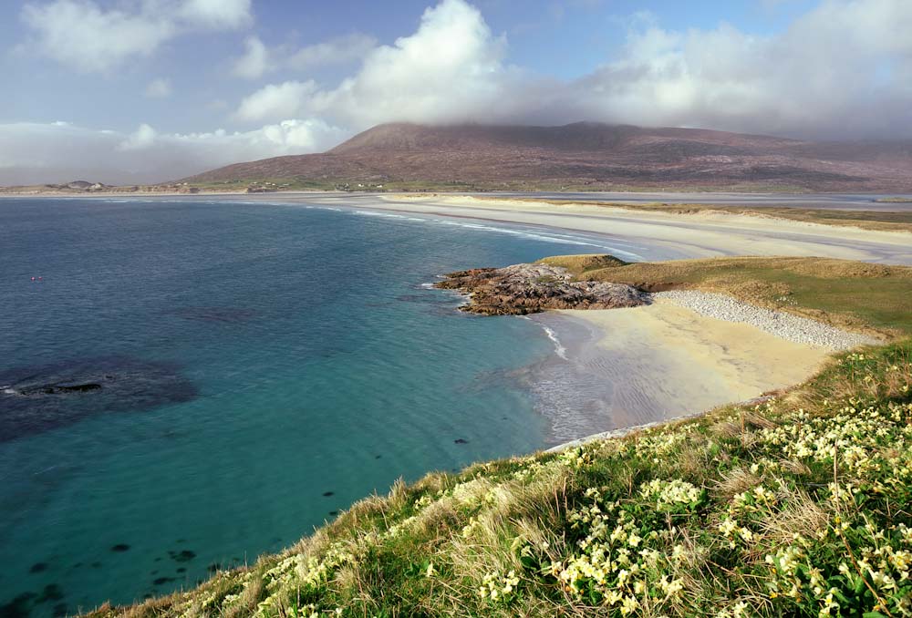
<instances>
[{"instance_id":1,"label":"long low white cloud bank left of the mountain, above the horizon","mask_svg":"<svg viewBox=\"0 0 912 618\"><path fill-rule=\"evenodd\" d=\"M0 183L87 180L108 183L176 180L241 160L329 149L343 129L291 119L250 131L161 133L149 125L130 134L67 122L0 125Z\"/></svg>"}]
</instances>

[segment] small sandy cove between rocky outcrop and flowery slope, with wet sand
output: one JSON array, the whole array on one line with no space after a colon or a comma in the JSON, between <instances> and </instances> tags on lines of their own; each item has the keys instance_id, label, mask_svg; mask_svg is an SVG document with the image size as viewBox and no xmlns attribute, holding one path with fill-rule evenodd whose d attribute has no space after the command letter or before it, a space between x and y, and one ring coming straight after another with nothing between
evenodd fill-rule
<instances>
[{"instance_id":1,"label":"small sandy cove between rocky outcrop and flowery slope, with wet sand","mask_svg":"<svg viewBox=\"0 0 912 618\"><path fill-rule=\"evenodd\" d=\"M738 314L724 319L731 305L717 294L704 299L717 304L716 316L655 296L639 307L527 316L555 346L554 355L533 368L530 385L551 426L545 451L754 401L814 376L836 350L876 343L817 323L845 339L812 345L747 324Z\"/></svg>"}]
</instances>

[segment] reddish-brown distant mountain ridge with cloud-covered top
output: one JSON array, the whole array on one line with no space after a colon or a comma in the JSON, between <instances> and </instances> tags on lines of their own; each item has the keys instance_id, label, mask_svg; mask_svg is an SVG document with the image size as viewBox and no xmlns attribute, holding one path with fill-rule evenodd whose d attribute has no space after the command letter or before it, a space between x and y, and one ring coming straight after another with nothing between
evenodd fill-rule
<instances>
[{"instance_id":1,"label":"reddish-brown distant mountain ridge with cloud-covered top","mask_svg":"<svg viewBox=\"0 0 912 618\"><path fill-rule=\"evenodd\" d=\"M912 191L912 140L811 142L711 129L378 125L321 154L236 163L193 183L294 180L479 188Z\"/></svg>"}]
</instances>

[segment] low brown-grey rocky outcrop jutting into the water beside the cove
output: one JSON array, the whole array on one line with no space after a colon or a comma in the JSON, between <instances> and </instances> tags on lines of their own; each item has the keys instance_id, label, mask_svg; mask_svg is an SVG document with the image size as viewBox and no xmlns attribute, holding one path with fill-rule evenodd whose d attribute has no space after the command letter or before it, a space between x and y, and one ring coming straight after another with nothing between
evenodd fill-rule
<instances>
[{"instance_id":1,"label":"low brown-grey rocky outcrop jutting into the water beside the cove","mask_svg":"<svg viewBox=\"0 0 912 618\"><path fill-rule=\"evenodd\" d=\"M537 314L547 309L614 309L649 303L649 294L625 283L574 281L549 264L476 268L446 275L435 284L470 294L463 311L484 315Z\"/></svg>"}]
</instances>

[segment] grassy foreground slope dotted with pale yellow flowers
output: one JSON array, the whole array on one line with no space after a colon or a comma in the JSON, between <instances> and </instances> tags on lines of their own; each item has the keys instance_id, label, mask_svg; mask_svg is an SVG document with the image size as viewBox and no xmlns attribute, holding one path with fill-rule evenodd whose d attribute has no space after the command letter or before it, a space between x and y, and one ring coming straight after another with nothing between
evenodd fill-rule
<instances>
[{"instance_id":1,"label":"grassy foreground slope dotted with pale yellow flowers","mask_svg":"<svg viewBox=\"0 0 912 618\"><path fill-rule=\"evenodd\" d=\"M828 302L876 316L881 300ZM885 315L878 328L906 328ZM94 615L900 616L910 570L912 340L897 338L760 406L397 483L281 554Z\"/></svg>"}]
</instances>

